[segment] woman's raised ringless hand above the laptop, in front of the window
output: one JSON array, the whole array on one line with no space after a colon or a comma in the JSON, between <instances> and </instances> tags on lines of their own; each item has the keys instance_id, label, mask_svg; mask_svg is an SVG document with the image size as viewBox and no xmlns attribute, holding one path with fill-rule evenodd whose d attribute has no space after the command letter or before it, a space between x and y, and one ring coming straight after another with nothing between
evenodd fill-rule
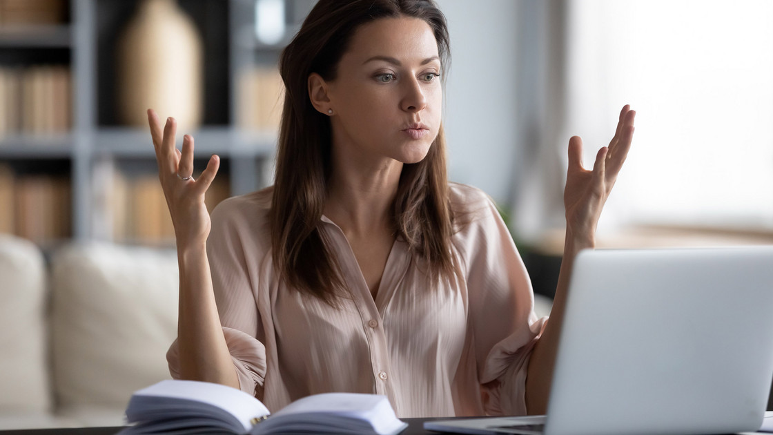
<instances>
[{"instance_id":1,"label":"woman's raised ringless hand above the laptop, in front of the window","mask_svg":"<svg viewBox=\"0 0 773 435\"><path fill-rule=\"evenodd\" d=\"M595 245L596 225L601 209L607 201L618 173L628 156L633 139L633 121L636 112L626 104L620 111L615 137L596 154L593 170L582 166L582 139L569 139L569 169L564 189L564 209L567 215L567 241L574 248L592 248Z\"/></svg>"}]
</instances>

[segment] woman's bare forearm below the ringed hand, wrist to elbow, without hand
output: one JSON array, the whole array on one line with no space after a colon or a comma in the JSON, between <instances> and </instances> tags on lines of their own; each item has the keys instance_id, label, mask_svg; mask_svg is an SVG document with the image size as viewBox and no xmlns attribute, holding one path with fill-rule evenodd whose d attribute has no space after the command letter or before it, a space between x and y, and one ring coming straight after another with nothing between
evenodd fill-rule
<instances>
[{"instance_id":1,"label":"woman's bare forearm below the ringed hand, wrist to elbow, without hand","mask_svg":"<svg viewBox=\"0 0 773 435\"><path fill-rule=\"evenodd\" d=\"M205 244L177 249L180 269L177 340L184 379L239 388L217 313Z\"/></svg>"}]
</instances>

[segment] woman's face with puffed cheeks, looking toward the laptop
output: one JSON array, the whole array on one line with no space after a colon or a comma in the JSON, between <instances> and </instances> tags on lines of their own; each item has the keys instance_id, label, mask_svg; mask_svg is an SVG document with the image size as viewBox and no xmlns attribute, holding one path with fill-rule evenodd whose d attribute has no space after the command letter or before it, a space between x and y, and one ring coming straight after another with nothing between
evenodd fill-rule
<instances>
[{"instance_id":1,"label":"woman's face with puffed cheeks, looking toward the laptop","mask_svg":"<svg viewBox=\"0 0 773 435\"><path fill-rule=\"evenodd\" d=\"M438 43L421 19L361 26L328 82L333 144L355 156L417 163L441 123Z\"/></svg>"}]
</instances>

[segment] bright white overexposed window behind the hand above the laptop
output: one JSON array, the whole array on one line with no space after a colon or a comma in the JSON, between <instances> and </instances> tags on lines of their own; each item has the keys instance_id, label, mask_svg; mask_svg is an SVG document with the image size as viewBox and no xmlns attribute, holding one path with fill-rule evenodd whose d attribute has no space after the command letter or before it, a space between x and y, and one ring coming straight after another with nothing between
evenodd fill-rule
<instances>
[{"instance_id":1,"label":"bright white overexposed window behind the hand above the laptop","mask_svg":"<svg viewBox=\"0 0 773 435\"><path fill-rule=\"evenodd\" d=\"M637 111L608 221L773 230L773 2L574 0L567 132Z\"/></svg>"}]
</instances>

